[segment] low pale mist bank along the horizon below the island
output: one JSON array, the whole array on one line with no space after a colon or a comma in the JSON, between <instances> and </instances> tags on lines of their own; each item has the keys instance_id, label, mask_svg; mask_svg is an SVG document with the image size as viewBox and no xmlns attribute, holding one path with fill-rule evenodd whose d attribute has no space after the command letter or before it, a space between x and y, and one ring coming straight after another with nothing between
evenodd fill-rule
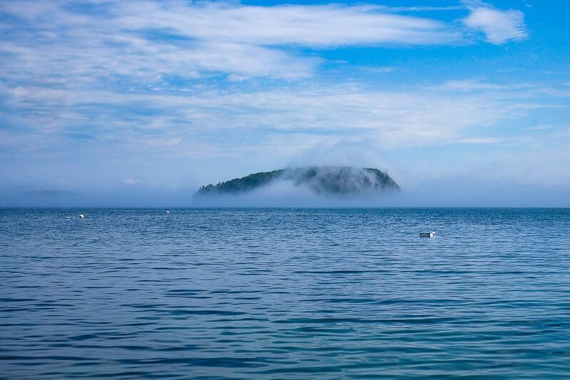
<instances>
[{"instance_id":1,"label":"low pale mist bank along the horizon below the island","mask_svg":"<svg viewBox=\"0 0 570 380\"><path fill-rule=\"evenodd\" d=\"M401 190L375 195L330 196L289 181L248 194L194 197L200 183L180 190L143 185L104 191L33 193L0 190L0 207L570 207L566 187L489 183L470 178L398 180Z\"/></svg>"}]
</instances>

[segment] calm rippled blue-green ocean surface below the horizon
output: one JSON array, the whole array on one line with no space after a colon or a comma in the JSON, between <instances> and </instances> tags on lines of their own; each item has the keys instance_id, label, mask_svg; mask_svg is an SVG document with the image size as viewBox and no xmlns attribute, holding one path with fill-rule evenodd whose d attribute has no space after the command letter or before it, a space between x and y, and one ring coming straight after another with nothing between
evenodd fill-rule
<instances>
[{"instance_id":1,"label":"calm rippled blue-green ocean surface below the horizon","mask_svg":"<svg viewBox=\"0 0 570 380\"><path fill-rule=\"evenodd\" d=\"M0 258L0 378L570 377L570 209L0 209Z\"/></svg>"}]
</instances>

